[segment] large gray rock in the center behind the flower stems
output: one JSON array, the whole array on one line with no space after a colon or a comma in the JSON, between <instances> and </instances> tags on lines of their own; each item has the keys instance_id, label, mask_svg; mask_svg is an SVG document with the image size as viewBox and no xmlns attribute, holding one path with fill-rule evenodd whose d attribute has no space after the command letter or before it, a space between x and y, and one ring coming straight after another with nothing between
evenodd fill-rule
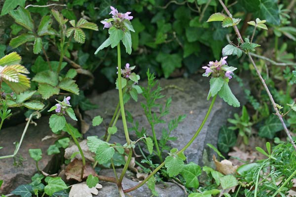
<instances>
[{"instance_id":1,"label":"large gray rock in the center behind the flower stems","mask_svg":"<svg viewBox=\"0 0 296 197\"><path fill-rule=\"evenodd\" d=\"M166 98L172 97L171 113L165 120L186 114L185 121L179 124L179 127L175 131L172 131L172 136L177 136L178 139L172 141L171 146L180 150L198 129L207 113L208 107L210 106L211 100L207 100L210 88L209 78L192 77L190 79L161 79L159 82L160 86L164 89L162 94L165 95ZM146 86L146 84L147 82L140 83L140 85L143 86ZM172 85L178 88L174 88ZM233 94L241 101L241 104L245 103L244 94L234 80L231 81L230 87ZM184 91L180 90L180 88ZM118 102L118 91L110 90L101 95L95 95L91 98L91 101L98 104L99 108L86 113L88 116L86 119L89 119L88 122L90 122L93 117L101 115L104 118L106 125L108 125ZM147 128L148 134L151 134L148 121L140 105L141 102L145 102L142 96L139 97L138 102L130 100L125 104L125 110L128 110L133 115L134 120L139 121L140 129L143 126ZM161 103L164 104L165 99L162 99ZM185 151L187 162L194 162L202 165L202 156L205 150L207 151L206 155L208 156L208 160L211 161L214 152L208 148L206 144L211 143L214 146L217 145L220 127L227 122L227 118L230 118L234 112L238 111L240 111L239 108L229 106L222 99L217 98L204 128L200 131L198 137L194 140L191 146ZM98 127L91 126L90 130L86 133L86 136L104 135L106 125L101 124ZM112 135L110 142L124 144L126 141L122 129L122 121L120 119L116 126L118 131L115 135ZM163 127L166 127L166 125L159 124L156 126L155 130L158 137L160 137ZM130 132L130 137L132 140L137 139L134 132Z\"/></svg>"}]
</instances>

